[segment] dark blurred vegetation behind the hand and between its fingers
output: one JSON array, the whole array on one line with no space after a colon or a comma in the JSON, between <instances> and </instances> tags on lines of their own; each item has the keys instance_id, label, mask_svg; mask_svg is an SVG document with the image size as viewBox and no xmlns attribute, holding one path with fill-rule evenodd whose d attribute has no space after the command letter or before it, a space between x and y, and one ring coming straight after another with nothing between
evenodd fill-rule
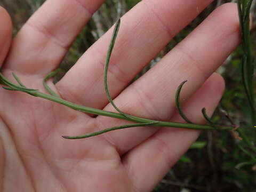
<instances>
[{"instance_id":1,"label":"dark blurred vegetation behind the hand and between its fingers","mask_svg":"<svg viewBox=\"0 0 256 192\"><path fill-rule=\"evenodd\" d=\"M0 0L0 5L10 13L14 31L17 31L27 21L44 0ZM87 26L83 28L69 53L61 63L65 72L74 65L76 60L102 36L116 21L118 14L123 15L129 11L139 0L107 0L93 15ZM201 23L216 7L223 3L232 2L214 1L207 9L183 29L173 40L138 74L139 78L150 66L159 61L177 43L182 41L191 30ZM254 2L255 4L255 2ZM252 7L252 15L255 17L255 8ZM256 25L253 23L251 35L253 53L256 49ZM236 124L245 125L249 107L244 95L241 80L241 47L223 63L218 72L225 78L226 91L222 101L215 111L213 121L228 124L223 110L228 111L229 116ZM59 77L61 78L61 77ZM246 103L246 105L245 105ZM254 138L253 127L244 127L247 135ZM256 165L251 163L250 154L243 153L232 135L227 131L203 132L196 143L181 157L180 161L169 171L166 177L158 184L154 191L256 191ZM243 149L243 148L242 148ZM146 179L146 178L145 178Z\"/></svg>"}]
</instances>

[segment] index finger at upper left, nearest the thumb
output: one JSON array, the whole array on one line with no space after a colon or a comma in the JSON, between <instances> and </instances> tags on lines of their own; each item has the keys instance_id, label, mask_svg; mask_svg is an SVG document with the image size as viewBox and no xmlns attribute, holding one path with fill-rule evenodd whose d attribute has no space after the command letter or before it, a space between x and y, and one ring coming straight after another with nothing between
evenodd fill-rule
<instances>
[{"instance_id":1,"label":"index finger at upper left, nearest the thumb","mask_svg":"<svg viewBox=\"0 0 256 192\"><path fill-rule=\"evenodd\" d=\"M6 67L44 76L56 68L103 0L48 0L14 39Z\"/></svg>"}]
</instances>

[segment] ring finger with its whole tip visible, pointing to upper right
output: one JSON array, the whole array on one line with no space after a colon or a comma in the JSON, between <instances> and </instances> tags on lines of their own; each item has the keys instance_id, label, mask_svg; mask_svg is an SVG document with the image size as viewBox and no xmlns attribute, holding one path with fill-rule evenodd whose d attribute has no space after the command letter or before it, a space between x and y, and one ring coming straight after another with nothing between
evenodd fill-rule
<instances>
[{"instance_id":1,"label":"ring finger with its whole tip visible, pointing to upper right","mask_svg":"<svg viewBox=\"0 0 256 192\"><path fill-rule=\"evenodd\" d=\"M181 100L187 100L217 69L239 43L239 21L235 4L215 10L193 33L168 53L154 68L130 85L116 99L125 113L168 121L175 109L175 92L183 86ZM104 110L114 111L111 105ZM105 127L123 124L99 116ZM156 131L154 127L126 129L105 134L106 139L125 153Z\"/></svg>"}]
</instances>

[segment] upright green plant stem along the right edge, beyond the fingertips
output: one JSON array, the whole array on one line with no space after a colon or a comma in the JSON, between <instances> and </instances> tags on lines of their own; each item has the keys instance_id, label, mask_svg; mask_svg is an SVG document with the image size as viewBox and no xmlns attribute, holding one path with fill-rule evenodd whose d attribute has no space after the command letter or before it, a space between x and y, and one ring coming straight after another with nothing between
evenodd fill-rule
<instances>
[{"instance_id":1,"label":"upright green plant stem along the right edge, beyond the fingertips","mask_svg":"<svg viewBox=\"0 0 256 192\"><path fill-rule=\"evenodd\" d=\"M250 126L250 129L255 129L256 124L256 114L255 114L255 99L254 99L254 61L252 58L251 49L251 39L250 39L250 8L252 5L252 0L238 0L237 7L239 13L239 21L241 28L241 39L242 39L242 49L243 49L243 60L241 66L241 74L243 80L243 86L246 93L247 100L250 107L250 118L251 121L247 123L246 126ZM256 148L253 140L249 139L246 134L242 131L243 127L238 129L239 135L243 138L243 142L247 144L249 150L243 148L241 145L239 148L249 157L251 157L249 162L239 163L236 167L241 168L244 165L255 164L256 163ZM255 132L253 130L252 132ZM254 139L254 138L252 138Z\"/></svg>"}]
</instances>

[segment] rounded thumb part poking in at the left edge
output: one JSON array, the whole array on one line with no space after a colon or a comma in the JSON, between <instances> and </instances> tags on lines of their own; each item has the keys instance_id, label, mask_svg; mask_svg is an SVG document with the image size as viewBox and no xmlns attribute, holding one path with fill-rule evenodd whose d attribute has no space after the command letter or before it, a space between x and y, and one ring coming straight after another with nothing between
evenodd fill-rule
<instances>
[{"instance_id":1,"label":"rounded thumb part poking in at the left edge","mask_svg":"<svg viewBox=\"0 0 256 192\"><path fill-rule=\"evenodd\" d=\"M0 6L0 67L11 46L12 40L12 21L9 14Z\"/></svg>"}]
</instances>

